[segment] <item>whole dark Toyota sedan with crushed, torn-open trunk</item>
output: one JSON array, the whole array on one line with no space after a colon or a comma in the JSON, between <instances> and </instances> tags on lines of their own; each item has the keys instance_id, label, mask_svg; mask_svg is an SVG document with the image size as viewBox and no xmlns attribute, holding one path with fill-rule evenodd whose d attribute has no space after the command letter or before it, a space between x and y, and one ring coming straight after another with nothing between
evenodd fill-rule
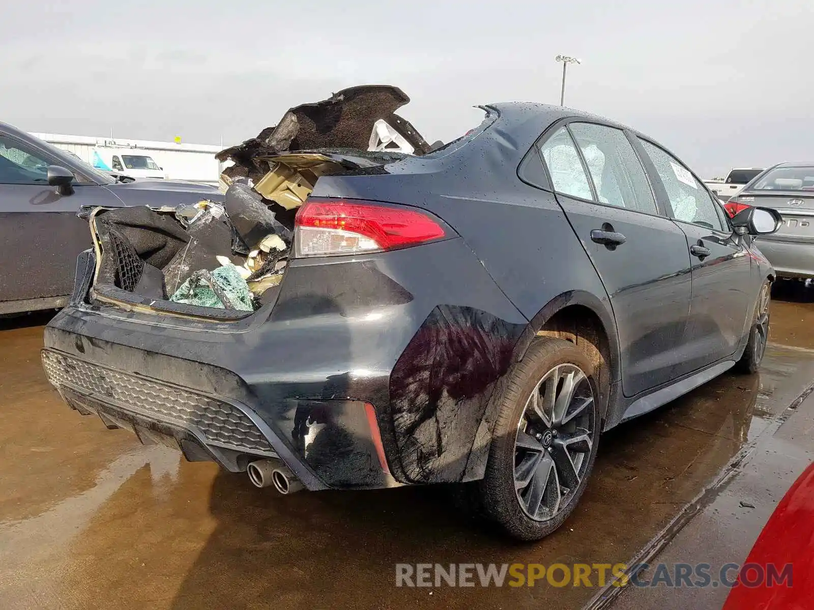
<instances>
[{"instance_id":1,"label":"whole dark Toyota sedan with crushed, torn-open trunk","mask_svg":"<svg viewBox=\"0 0 814 610\"><path fill-rule=\"evenodd\" d=\"M391 86L223 150L223 201L87 208L94 248L42 361L66 403L256 486L450 483L521 539L588 485L601 435L754 371L774 272L641 133L484 106L433 145Z\"/></svg>"}]
</instances>

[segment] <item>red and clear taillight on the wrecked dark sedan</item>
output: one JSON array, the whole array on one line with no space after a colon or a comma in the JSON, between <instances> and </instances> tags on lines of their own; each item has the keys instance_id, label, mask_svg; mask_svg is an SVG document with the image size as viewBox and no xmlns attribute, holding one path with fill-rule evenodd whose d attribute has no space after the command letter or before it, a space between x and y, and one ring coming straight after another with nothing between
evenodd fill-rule
<instances>
[{"instance_id":1,"label":"red and clear taillight on the wrecked dark sedan","mask_svg":"<svg viewBox=\"0 0 814 610\"><path fill-rule=\"evenodd\" d=\"M295 218L297 256L392 250L446 237L426 212L381 203L309 199Z\"/></svg>"}]
</instances>

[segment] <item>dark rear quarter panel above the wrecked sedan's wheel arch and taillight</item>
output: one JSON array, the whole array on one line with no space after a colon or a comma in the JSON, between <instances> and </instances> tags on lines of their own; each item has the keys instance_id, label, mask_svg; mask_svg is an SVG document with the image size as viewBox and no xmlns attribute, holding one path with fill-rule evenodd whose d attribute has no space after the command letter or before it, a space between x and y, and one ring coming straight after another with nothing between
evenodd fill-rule
<instances>
[{"instance_id":1,"label":"dark rear quarter panel above the wrecked sedan's wheel arch and taillight","mask_svg":"<svg viewBox=\"0 0 814 610\"><path fill-rule=\"evenodd\" d=\"M529 121L508 132L498 123L457 154L392 163L374 175L322 176L313 195L402 203L440 216L528 320L554 298L580 291L609 316L602 281L554 194L518 177L547 125Z\"/></svg>"}]
</instances>

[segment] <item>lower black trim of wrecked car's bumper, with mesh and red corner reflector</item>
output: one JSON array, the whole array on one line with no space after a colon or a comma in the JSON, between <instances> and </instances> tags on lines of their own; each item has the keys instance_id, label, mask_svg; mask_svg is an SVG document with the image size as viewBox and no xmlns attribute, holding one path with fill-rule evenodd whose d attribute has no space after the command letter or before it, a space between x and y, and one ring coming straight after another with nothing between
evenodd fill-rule
<instances>
[{"instance_id":1,"label":"lower black trim of wrecked car's bumper, with mesh and red corner reflector","mask_svg":"<svg viewBox=\"0 0 814 610\"><path fill-rule=\"evenodd\" d=\"M187 460L213 460L236 473L254 460L279 458L312 491L398 484L380 449L369 403L292 399L287 443L254 408L233 397L102 366L52 348L42 350L42 364L50 383L73 409L99 416L109 429L128 429L144 444L182 451ZM167 364L175 368L181 363ZM236 381L228 372L204 369L214 386ZM322 463L317 459L321 447ZM356 460L331 468L324 463L326 447Z\"/></svg>"}]
</instances>

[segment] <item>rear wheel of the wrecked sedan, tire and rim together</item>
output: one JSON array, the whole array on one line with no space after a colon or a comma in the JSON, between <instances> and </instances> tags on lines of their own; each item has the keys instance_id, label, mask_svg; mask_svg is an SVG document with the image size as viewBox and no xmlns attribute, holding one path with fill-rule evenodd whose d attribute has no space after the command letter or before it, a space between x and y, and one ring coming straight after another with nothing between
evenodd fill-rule
<instances>
[{"instance_id":1,"label":"rear wheel of the wrecked sedan, tire and rim together","mask_svg":"<svg viewBox=\"0 0 814 610\"><path fill-rule=\"evenodd\" d=\"M479 496L506 533L539 540L584 493L601 432L599 392L589 358L562 339L535 339L509 375Z\"/></svg>"}]
</instances>

